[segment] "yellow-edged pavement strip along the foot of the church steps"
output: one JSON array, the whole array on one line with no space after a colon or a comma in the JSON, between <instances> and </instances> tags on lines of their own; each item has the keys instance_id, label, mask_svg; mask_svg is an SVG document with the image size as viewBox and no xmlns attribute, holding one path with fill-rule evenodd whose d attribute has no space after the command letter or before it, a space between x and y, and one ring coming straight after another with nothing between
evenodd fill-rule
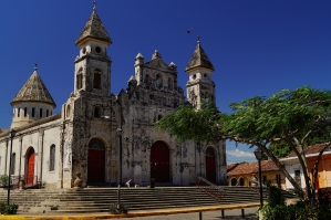
<instances>
[{"instance_id":1,"label":"yellow-edged pavement strip along the foot of the church steps","mask_svg":"<svg viewBox=\"0 0 331 220\"><path fill-rule=\"evenodd\" d=\"M259 207L258 202L239 203L239 205L219 205L219 206L206 206L206 207L189 207L189 208L172 208L172 209L151 209L151 210L133 210L127 214L111 214L107 212L97 213L60 213L60 212L46 212L40 214L33 213L18 213L13 216L1 214L0 220L94 220L94 219L121 219L121 218L137 218L137 217L153 217L153 216L168 216L179 213L194 213L206 211L220 211L220 210L238 210L238 216L241 213L241 209ZM197 213L197 219L199 214ZM203 220L201 214L201 220ZM226 218L227 219L227 218ZM232 218L231 218L232 219ZM241 218L238 218L241 219Z\"/></svg>"}]
</instances>

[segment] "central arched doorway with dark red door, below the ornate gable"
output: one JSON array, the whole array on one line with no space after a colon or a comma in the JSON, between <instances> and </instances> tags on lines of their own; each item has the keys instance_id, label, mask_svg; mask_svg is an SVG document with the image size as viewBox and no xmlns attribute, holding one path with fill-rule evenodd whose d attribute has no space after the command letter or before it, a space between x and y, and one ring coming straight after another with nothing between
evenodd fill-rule
<instances>
[{"instance_id":1,"label":"central arched doorway with dark red door, below the ornate gable","mask_svg":"<svg viewBox=\"0 0 331 220\"><path fill-rule=\"evenodd\" d=\"M151 179L169 182L169 148L164 142L156 142L151 148Z\"/></svg>"}]
</instances>

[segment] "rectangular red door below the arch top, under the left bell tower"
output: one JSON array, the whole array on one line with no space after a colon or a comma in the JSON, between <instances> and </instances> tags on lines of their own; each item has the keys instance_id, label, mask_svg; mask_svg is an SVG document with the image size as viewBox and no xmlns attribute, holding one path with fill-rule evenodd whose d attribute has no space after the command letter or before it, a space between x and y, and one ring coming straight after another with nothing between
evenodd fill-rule
<instances>
[{"instance_id":1,"label":"rectangular red door below the arch top, under the left bell tower","mask_svg":"<svg viewBox=\"0 0 331 220\"><path fill-rule=\"evenodd\" d=\"M87 182L104 182L105 151L103 149L89 149Z\"/></svg>"}]
</instances>

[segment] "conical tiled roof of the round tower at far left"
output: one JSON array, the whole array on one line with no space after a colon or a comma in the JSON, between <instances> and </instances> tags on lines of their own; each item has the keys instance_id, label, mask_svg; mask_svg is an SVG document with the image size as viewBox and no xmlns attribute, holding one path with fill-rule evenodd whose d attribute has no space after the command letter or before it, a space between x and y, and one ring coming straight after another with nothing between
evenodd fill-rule
<instances>
[{"instance_id":1,"label":"conical tiled roof of the round tower at far left","mask_svg":"<svg viewBox=\"0 0 331 220\"><path fill-rule=\"evenodd\" d=\"M46 86L39 76L37 67L34 67L34 72L10 104L13 106L18 102L40 102L50 104L53 107L56 106Z\"/></svg>"}]
</instances>

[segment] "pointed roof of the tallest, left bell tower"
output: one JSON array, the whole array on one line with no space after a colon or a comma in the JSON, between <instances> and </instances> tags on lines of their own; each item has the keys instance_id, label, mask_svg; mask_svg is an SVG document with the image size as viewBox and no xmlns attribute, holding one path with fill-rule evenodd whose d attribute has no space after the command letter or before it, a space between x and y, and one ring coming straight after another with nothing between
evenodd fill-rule
<instances>
[{"instance_id":1,"label":"pointed roof of the tallest, left bell tower","mask_svg":"<svg viewBox=\"0 0 331 220\"><path fill-rule=\"evenodd\" d=\"M86 22L83 31L81 32L79 39L76 40L75 44L81 45L83 44L87 39L96 39L100 41L103 41L107 44L112 44L112 39L108 35L106 29L102 24L97 13L96 9L93 8L93 12Z\"/></svg>"}]
</instances>

